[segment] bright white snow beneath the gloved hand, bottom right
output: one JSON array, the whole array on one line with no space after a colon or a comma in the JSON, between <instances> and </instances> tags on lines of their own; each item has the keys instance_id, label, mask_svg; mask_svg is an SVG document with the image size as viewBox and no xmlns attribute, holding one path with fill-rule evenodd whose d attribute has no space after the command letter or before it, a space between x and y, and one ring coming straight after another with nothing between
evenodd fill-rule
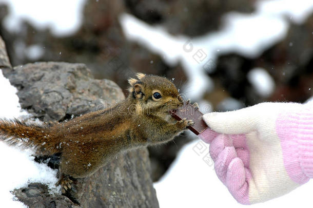
<instances>
[{"instance_id":1,"label":"bright white snow beneath the gloved hand, bottom right","mask_svg":"<svg viewBox=\"0 0 313 208\"><path fill-rule=\"evenodd\" d=\"M312 182L296 190L264 203L250 205L257 207L309 207ZM219 180L209 145L199 139L184 146L159 182L154 183L161 208L167 207L247 207L239 204L227 187Z\"/></svg>"}]
</instances>

